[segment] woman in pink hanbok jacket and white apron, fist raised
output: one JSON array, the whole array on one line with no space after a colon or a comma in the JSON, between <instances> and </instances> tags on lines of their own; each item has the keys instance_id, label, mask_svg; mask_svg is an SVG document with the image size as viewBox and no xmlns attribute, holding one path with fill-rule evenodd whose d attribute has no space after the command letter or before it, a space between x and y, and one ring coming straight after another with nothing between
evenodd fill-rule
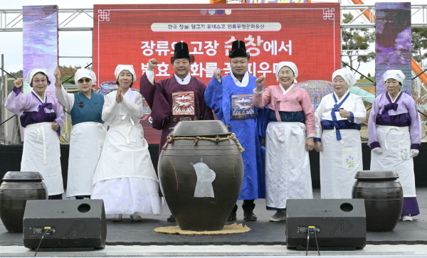
<instances>
[{"instance_id":1,"label":"woman in pink hanbok jacket and white apron, fist raised","mask_svg":"<svg viewBox=\"0 0 427 258\"><path fill-rule=\"evenodd\" d=\"M313 198L308 151L315 146L315 114L307 92L295 83L297 66L280 62L279 85L253 89L253 104L270 104L265 139L265 205L270 221L286 220L287 199Z\"/></svg>"}]
</instances>

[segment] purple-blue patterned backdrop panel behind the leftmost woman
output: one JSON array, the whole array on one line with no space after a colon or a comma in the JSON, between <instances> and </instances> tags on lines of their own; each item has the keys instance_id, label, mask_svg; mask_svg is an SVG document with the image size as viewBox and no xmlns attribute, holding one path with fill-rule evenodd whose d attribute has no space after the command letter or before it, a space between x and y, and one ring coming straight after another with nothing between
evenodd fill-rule
<instances>
[{"instance_id":1,"label":"purple-blue patterned backdrop panel behind the leftmost woman","mask_svg":"<svg viewBox=\"0 0 427 258\"><path fill-rule=\"evenodd\" d=\"M55 96L53 70L58 65L58 6L23 6L23 79L29 70L48 72L51 85L46 92ZM24 92L31 87L24 83Z\"/></svg>"}]
</instances>

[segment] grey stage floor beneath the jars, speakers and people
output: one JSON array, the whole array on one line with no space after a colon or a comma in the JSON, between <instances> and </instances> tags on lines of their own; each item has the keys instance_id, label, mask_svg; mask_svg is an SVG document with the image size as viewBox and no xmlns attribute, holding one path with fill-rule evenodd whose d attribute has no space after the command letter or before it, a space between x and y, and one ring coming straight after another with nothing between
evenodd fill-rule
<instances>
[{"instance_id":1,"label":"grey stage floor beneath the jars, speakers and people","mask_svg":"<svg viewBox=\"0 0 427 258\"><path fill-rule=\"evenodd\" d=\"M367 232L367 244L427 244L427 188L417 188L417 200L421 215L413 222L399 221L392 232ZM320 190L314 190L315 198L320 198ZM238 202L238 220L248 225L250 232L237 235L167 235L154 232L156 227L176 225L167 222L169 209L164 203L162 215L142 216L143 220L134 222L130 217L123 217L121 222L113 222L107 216L107 245L285 245L286 222L269 222L273 211L265 210L265 200L255 200L256 222L243 220L241 201ZM231 223L227 223L231 224ZM6 232L0 225L1 246L23 245L21 233ZM426 245L427 249L427 245Z\"/></svg>"}]
</instances>

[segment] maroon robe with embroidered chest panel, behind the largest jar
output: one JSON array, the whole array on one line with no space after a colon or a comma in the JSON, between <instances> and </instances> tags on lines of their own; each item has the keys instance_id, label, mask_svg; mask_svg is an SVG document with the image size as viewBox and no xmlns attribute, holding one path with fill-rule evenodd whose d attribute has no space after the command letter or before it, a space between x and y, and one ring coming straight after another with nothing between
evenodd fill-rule
<instances>
[{"instance_id":1,"label":"maroon robe with embroidered chest panel, behind the largest jar","mask_svg":"<svg viewBox=\"0 0 427 258\"><path fill-rule=\"evenodd\" d=\"M176 75L169 79L154 81L154 72L147 70L139 83L141 95L152 112L152 126L162 130L159 151L166 143L170 128L179 118L193 120L213 120L212 110L206 106L204 92L206 85L196 77L187 75L181 80ZM174 121L175 120L175 121Z\"/></svg>"}]
</instances>

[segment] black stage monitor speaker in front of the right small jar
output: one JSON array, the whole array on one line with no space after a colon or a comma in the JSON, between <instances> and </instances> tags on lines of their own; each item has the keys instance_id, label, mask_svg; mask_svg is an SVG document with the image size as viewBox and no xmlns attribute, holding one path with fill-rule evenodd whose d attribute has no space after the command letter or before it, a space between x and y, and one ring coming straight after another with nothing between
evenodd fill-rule
<instances>
[{"instance_id":1,"label":"black stage monitor speaker in front of the right small jar","mask_svg":"<svg viewBox=\"0 0 427 258\"><path fill-rule=\"evenodd\" d=\"M367 244L363 199L287 200L286 246L360 249ZM302 248L301 248L302 247ZM310 248L313 249L313 248Z\"/></svg>"}]
</instances>

